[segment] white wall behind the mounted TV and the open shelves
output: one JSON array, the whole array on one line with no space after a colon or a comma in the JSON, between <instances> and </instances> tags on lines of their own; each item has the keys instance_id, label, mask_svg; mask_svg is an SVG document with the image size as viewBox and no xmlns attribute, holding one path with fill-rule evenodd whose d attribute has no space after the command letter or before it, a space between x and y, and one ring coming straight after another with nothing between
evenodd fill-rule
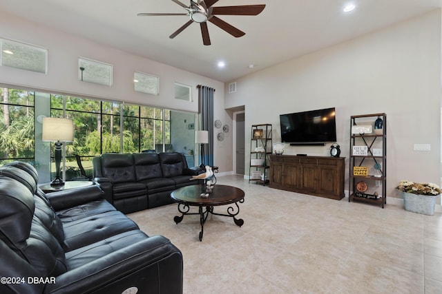
<instances>
[{"instance_id":1,"label":"white wall behind the mounted TV and the open shelves","mask_svg":"<svg viewBox=\"0 0 442 294\"><path fill-rule=\"evenodd\" d=\"M278 142L279 114L336 107L337 140L341 156L347 157L347 171L350 116L385 112L387 196L401 197L394 187L403 179L440 182L440 10L236 82L233 94L228 94L226 83L225 107L244 105L246 131L252 124L271 123L273 142ZM249 150L250 132L246 136ZM431 151L414 151L414 143L431 144ZM329 156L329 145L286 145L286 153ZM346 183L348 189L348 172Z\"/></svg>"}]
</instances>

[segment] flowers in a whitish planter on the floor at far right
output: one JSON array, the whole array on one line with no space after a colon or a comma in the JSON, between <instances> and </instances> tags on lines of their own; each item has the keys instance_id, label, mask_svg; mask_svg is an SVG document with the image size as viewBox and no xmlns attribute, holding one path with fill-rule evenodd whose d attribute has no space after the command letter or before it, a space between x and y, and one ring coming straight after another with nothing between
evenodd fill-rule
<instances>
[{"instance_id":1,"label":"flowers in a whitish planter on the floor at far right","mask_svg":"<svg viewBox=\"0 0 442 294\"><path fill-rule=\"evenodd\" d=\"M426 214L432 216L436 199L441 193L441 188L433 183L420 184L402 180L399 182L399 191L403 192L403 206L407 211Z\"/></svg>"}]
</instances>

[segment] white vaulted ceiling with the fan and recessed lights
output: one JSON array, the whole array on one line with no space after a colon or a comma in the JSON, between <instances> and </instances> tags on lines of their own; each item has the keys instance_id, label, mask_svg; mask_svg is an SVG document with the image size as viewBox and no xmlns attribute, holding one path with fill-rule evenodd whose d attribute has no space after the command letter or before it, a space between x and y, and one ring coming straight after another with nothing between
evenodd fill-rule
<instances>
[{"instance_id":1,"label":"white vaulted ceiling with the fan and recessed lights","mask_svg":"<svg viewBox=\"0 0 442 294\"><path fill-rule=\"evenodd\" d=\"M352 1L348 14L343 6ZM352 39L436 8L441 0L219 0L213 6L266 4L258 16L220 16L246 32L235 38L209 23L212 45L193 23L169 35L186 16L137 17L140 12L185 13L171 0L0 0L0 10L84 36L218 81L234 79ZM190 0L182 0L189 5ZM44 44L42 44L44 45ZM218 61L226 67L220 70ZM255 65L249 69L249 65Z\"/></svg>"}]
</instances>

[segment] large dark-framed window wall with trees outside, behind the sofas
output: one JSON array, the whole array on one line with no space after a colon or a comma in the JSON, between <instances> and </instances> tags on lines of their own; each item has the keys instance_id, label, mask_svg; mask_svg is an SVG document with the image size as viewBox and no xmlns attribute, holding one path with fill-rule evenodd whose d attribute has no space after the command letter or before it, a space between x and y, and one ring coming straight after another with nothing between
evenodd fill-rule
<instances>
[{"instance_id":1,"label":"large dark-framed window wall with trees outside, behind the sofas","mask_svg":"<svg viewBox=\"0 0 442 294\"><path fill-rule=\"evenodd\" d=\"M39 99L44 96L48 99L46 105L50 99L47 110L50 116L70 118L74 122L74 140L63 145L64 180L84 179L77 160L90 179L93 157L107 152L175 151L184 154L188 165L194 166L196 115L193 113L61 94L37 92L36 95L32 91L8 88L0 88L0 94L0 165L12 160L47 161L35 158L35 104L41 105ZM53 148L48 151L52 161L51 178L55 175L53 151Z\"/></svg>"}]
</instances>

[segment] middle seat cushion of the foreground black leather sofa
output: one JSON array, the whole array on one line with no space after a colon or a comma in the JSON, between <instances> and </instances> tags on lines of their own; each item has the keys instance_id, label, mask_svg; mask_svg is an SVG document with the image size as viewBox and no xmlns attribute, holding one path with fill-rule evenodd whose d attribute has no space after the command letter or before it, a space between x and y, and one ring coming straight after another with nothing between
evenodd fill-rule
<instances>
[{"instance_id":1,"label":"middle seat cushion of the foreground black leather sofa","mask_svg":"<svg viewBox=\"0 0 442 294\"><path fill-rule=\"evenodd\" d=\"M65 251L72 251L119 233L139 229L133 220L116 210L65 222L63 227Z\"/></svg>"}]
</instances>

